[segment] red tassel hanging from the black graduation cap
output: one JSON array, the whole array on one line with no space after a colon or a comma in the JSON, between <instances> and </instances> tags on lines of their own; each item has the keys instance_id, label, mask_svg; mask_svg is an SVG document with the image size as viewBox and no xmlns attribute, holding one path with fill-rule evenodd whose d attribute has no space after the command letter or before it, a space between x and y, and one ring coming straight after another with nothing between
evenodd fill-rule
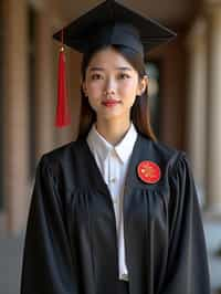
<instances>
[{"instance_id":1,"label":"red tassel hanging from the black graduation cap","mask_svg":"<svg viewBox=\"0 0 221 294\"><path fill-rule=\"evenodd\" d=\"M71 124L71 115L67 102L65 54L62 46L59 55L59 81L57 81L56 127L65 127Z\"/></svg>"}]
</instances>

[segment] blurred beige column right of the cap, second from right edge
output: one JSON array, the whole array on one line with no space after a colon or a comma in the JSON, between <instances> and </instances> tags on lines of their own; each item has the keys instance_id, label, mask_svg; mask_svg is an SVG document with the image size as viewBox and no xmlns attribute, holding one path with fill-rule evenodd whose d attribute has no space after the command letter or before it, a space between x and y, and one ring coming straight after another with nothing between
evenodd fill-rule
<instances>
[{"instance_id":1,"label":"blurred beige column right of the cap, second from right edge","mask_svg":"<svg viewBox=\"0 0 221 294\"><path fill-rule=\"evenodd\" d=\"M189 51L187 141L200 203L206 202L207 38L206 20L198 19L187 39Z\"/></svg>"}]
</instances>

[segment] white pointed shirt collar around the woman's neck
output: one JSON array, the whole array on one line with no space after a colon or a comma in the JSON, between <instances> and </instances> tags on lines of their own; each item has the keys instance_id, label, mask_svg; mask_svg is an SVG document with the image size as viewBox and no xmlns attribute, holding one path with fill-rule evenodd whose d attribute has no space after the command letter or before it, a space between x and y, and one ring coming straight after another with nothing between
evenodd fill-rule
<instances>
[{"instance_id":1,"label":"white pointed shirt collar around the woman's neck","mask_svg":"<svg viewBox=\"0 0 221 294\"><path fill-rule=\"evenodd\" d=\"M116 145L113 146L108 143L96 129L95 123L93 124L88 135L87 143L93 153L97 153L102 160L105 160L108 154L115 149L119 159L125 162L131 155L134 144L137 139L137 130L133 123L130 127L123 137L123 139Z\"/></svg>"}]
</instances>

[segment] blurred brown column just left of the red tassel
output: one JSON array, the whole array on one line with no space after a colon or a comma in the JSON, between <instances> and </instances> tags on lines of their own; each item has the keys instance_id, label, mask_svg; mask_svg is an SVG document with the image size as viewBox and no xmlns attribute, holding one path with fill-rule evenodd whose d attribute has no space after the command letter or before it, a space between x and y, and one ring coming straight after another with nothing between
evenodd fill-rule
<instances>
[{"instance_id":1,"label":"blurred brown column just left of the red tassel","mask_svg":"<svg viewBox=\"0 0 221 294\"><path fill-rule=\"evenodd\" d=\"M48 9L35 21L35 159L53 146L52 30Z\"/></svg>"}]
</instances>

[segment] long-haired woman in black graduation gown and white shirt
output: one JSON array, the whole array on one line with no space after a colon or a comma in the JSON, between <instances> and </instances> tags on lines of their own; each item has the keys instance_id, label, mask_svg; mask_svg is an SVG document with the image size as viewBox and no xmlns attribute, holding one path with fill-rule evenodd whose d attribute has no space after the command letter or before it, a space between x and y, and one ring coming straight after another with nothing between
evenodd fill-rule
<instances>
[{"instance_id":1,"label":"long-haired woman in black graduation gown and white shirt","mask_svg":"<svg viewBox=\"0 0 221 294\"><path fill-rule=\"evenodd\" d=\"M191 169L151 130L137 32L108 23L90 44L78 137L38 166L21 293L209 294Z\"/></svg>"}]
</instances>

